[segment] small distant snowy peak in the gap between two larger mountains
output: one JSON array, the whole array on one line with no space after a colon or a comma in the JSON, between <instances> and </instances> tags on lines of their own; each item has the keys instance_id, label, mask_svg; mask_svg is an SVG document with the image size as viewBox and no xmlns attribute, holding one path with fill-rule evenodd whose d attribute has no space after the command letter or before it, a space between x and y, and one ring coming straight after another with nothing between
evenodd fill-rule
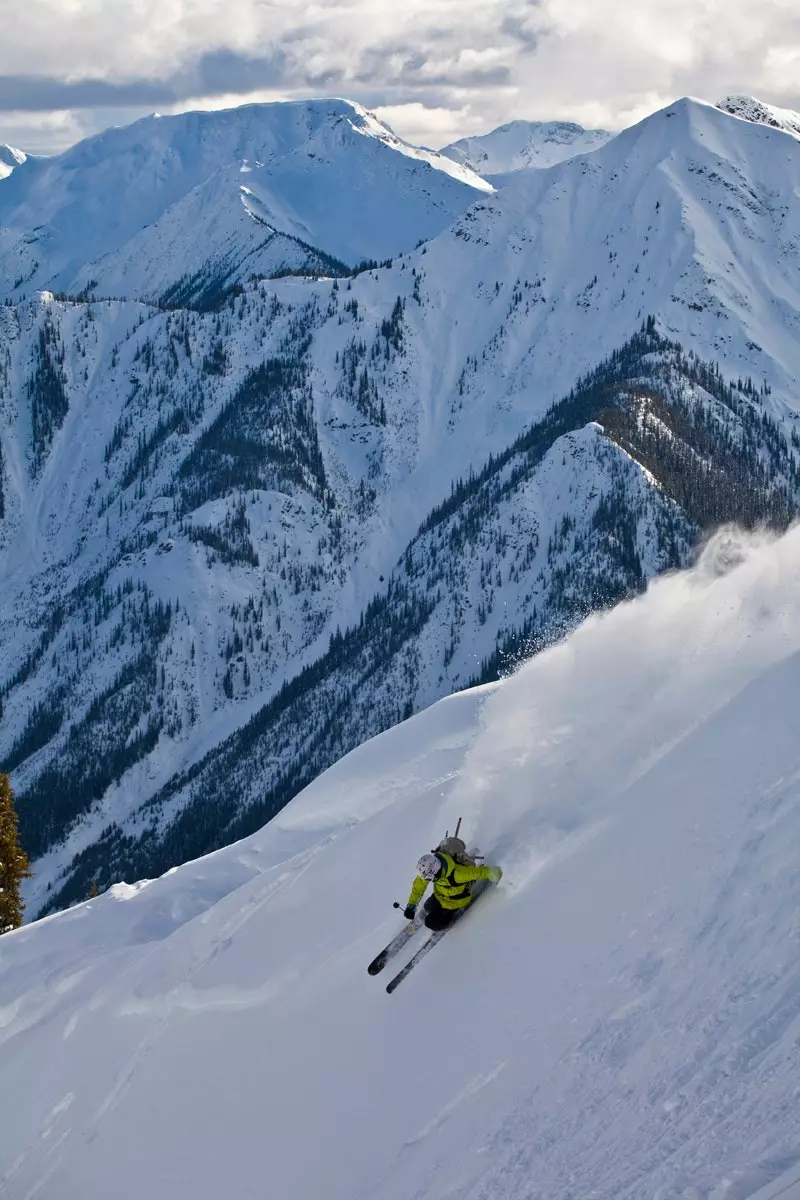
<instances>
[{"instance_id":1,"label":"small distant snowy peak in the gap between two larger mountains","mask_svg":"<svg viewBox=\"0 0 800 1200\"><path fill-rule=\"evenodd\" d=\"M609 142L606 130L584 130L572 121L509 121L491 133L461 138L439 151L483 178L507 176L535 167L553 167Z\"/></svg>"}]
</instances>

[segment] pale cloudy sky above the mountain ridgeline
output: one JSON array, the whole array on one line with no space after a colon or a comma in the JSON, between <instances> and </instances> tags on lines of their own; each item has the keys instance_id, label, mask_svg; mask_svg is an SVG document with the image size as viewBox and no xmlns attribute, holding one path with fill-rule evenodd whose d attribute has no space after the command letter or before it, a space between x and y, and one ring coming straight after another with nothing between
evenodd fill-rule
<instances>
[{"instance_id":1,"label":"pale cloudy sky above the mountain ridgeline","mask_svg":"<svg viewBox=\"0 0 800 1200\"><path fill-rule=\"evenodd\" d=\"M154 110L347 96L444 145L515 118L619 128L691 94L800 108L799 0L0 0L0 143Z\"/></svg>"}]
</instances>

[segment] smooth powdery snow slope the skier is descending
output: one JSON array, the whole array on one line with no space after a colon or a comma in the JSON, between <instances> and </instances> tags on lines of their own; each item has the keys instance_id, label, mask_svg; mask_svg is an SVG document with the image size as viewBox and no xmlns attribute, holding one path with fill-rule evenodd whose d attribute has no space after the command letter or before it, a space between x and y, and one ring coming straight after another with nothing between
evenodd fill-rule
<instances>
[{"instance_id":1,"label":"smooth powdery snow slope the skier is descending","mask_svg":"<svg viewBox=\"0 0 800 1200\"><path fill-rule=\"evenodd\" d=\"M798 596L800 532L722 535L248 841L4 937L0 1195L792 1195ZM505 877L390 998L457 815Z\"/></svg>"}]
</instances>

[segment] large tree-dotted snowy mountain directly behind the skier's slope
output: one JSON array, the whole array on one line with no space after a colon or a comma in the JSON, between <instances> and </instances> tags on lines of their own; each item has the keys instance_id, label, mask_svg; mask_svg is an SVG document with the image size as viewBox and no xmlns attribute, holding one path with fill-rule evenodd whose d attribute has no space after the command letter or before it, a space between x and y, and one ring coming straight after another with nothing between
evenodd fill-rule
<instances>
[{"instance_id":1,"label":"large tree-dotted snowy mountain directly behind the skier's slope","mask_svg":"<svg viewBox=\"0 0 800 1200\"><path fill-rule=\"evenodd\" d=\"M392 160L393 162L393 160ZM680 101L391 265L0 308L0 762L31 910L799 506L800 146Z\"/></svg>"}]
</instances>

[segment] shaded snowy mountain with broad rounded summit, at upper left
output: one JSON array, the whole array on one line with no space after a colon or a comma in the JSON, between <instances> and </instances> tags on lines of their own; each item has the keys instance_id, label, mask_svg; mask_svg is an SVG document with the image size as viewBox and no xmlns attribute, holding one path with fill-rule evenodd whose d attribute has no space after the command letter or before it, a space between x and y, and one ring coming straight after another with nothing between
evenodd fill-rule
<instances>
[{"instance_id":1,"label":"shaded snowy mountain with broad rounded summit, at upper left","mask_svg":"<svg viewBox=\"0 0 800 1200\"><path fill-rule=\"evenodd\" d=\"M150 116L22 167L0 187L0 294L13 299L180 304L254 275L345 274L491 191L336 100Z\"/></svg>"}]
</instances>

